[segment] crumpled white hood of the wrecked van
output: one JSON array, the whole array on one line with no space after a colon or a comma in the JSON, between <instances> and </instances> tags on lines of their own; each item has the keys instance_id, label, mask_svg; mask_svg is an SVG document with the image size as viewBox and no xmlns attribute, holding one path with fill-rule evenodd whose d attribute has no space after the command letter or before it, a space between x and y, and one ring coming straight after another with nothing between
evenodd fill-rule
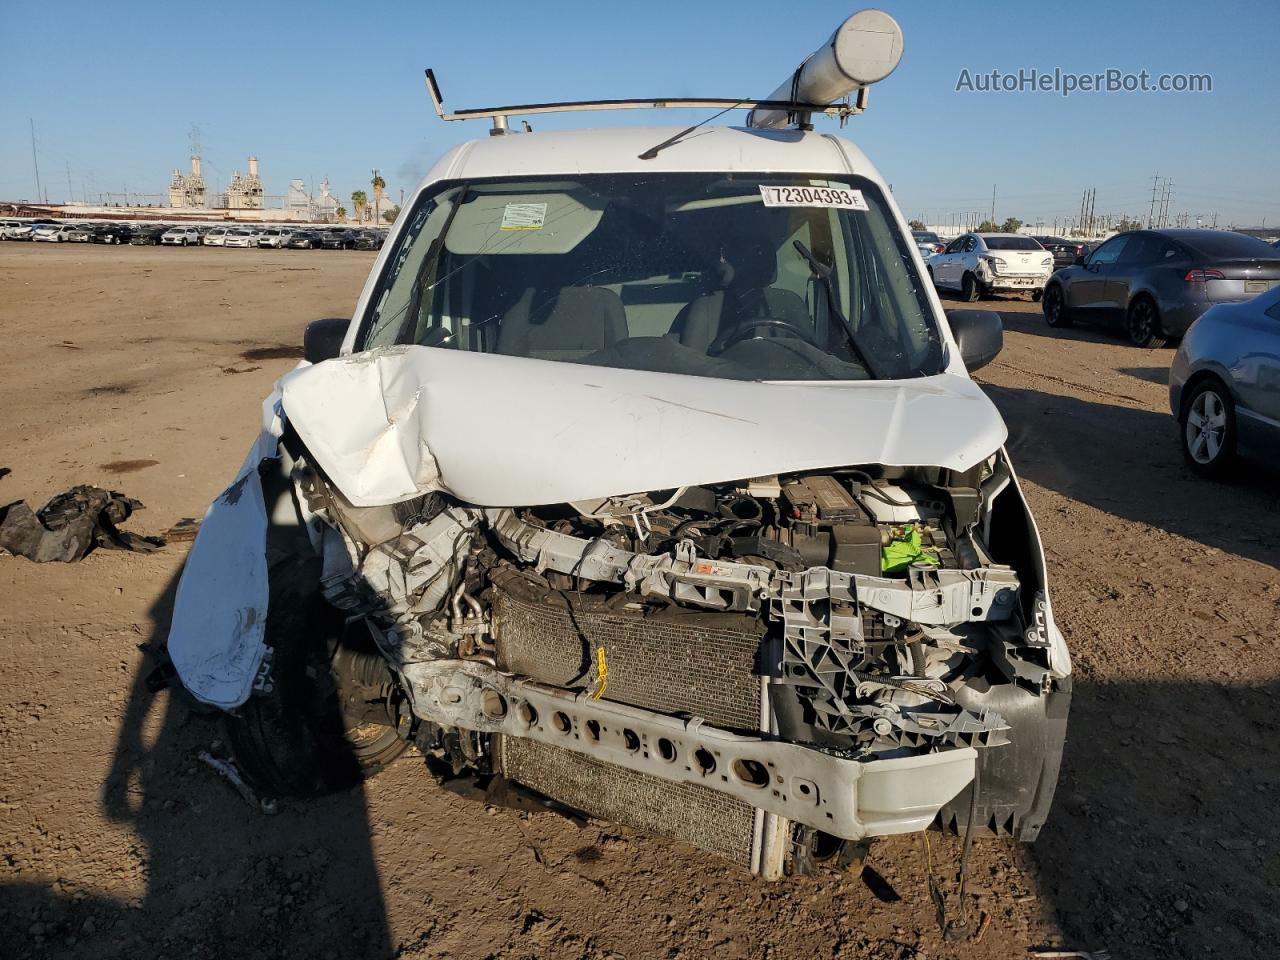
<instances>
[{"instance_id":1,"label":"crumpled white hood of the wrecked van","mask_svg":"<svg viewBox=\"0 0 1280 960\"><path fill-rule=\"evenodd\" d=\"M854 463L968 470L1007 434L954 374L750 383L385 347L280 385L293 429L358 507L429 490L564 503Z\"/></svg>"}]
</instances>

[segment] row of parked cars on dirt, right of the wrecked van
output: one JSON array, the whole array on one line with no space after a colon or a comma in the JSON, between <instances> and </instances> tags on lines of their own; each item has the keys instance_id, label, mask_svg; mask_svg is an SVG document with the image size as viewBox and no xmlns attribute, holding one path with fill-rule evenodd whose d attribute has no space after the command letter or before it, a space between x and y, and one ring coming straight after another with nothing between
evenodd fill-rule
<instances>
[{"instance_id":1,"label":"row of parked cars on dirt, right of the wrecked van","mask_svg":"<svg viewBox=\"0 0 1280 960\"><path fill-rule=\"evenodd\" d=\"M1051 236L966 233L933 251L933 234L913 237L934 287L959 291L961 300L1028 292L1052 328L1092 323L1149 348L1180 339L1169 407L1187 465L1219 476L1240 456L1276 462L1280 241L1161 229L1088 247Z\"/></svg>"}]
</instances>

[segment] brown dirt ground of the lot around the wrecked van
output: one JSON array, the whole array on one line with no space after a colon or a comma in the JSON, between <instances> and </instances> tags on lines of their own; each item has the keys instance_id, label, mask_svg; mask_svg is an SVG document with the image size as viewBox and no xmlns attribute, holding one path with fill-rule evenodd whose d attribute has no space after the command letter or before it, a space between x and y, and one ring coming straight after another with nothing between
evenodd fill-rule
<instances>
[{"instance_id":1,"label":"brown dirt ground of the lot around the wrecked van","mask_svg":"<svg viewBox=\"0 0 1280 960\"><path fill-rule=\"evenodd\" d=\"M92 483L146 503L132 530L201 516L302 328L349 315L371 262L0 244L0 503ZM874 847L883 902L856 874L769 884L626 829L486 809L412 756L262 815L196 759L220 748L216 718L145 685L173 544L0 558L0 955L1275 956L1280 480L1184 468L1171 351L986 306L1006 340L978 376L1041 525L1075 700L1039 842L974 847L980 938L942 940L919 837ZM957 855L933 837L948 884Z\"/></svg>"}]
</instances>

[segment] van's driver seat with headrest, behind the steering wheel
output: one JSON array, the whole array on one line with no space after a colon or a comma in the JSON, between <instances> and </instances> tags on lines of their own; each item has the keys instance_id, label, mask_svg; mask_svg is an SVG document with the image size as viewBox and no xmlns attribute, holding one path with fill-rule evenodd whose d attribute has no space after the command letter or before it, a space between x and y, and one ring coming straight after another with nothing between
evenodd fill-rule
<instances>
[{"instance_id":1,"label":"van's driver seat with headrest, behind the steering wheel","mask_svg":"<svg viewBox=\"0 0 1280 960\"><path fill-rule=\"evenodd\" d=\"M813 320L804 300L772 285L778 262L768 244L739 239L732 248L726 246L721 270L721 289L686 303L671 325L671 333L684 346L705 353L722 333L748 326L760 317L786 320L801 330L812 329ZM765 332L764 335L772 334Z\"/></svg>"}]
</instances>

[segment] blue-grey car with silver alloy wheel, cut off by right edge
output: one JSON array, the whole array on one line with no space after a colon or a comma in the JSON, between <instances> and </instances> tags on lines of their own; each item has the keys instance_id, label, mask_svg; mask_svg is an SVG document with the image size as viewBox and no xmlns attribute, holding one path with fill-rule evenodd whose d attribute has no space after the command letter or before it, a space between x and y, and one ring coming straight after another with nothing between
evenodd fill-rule
<instances>
[{"instance_id":1,"label":"blue-grey car with silver alloy wheel, cut off by right edge","mask_svg":"<svg viewBox=\"0 0 1280 960\"><path fill-rule=\"evenodd\" d=\"M1169 370L1169 406L1197 474L1217 476L1240 453L1280 465L1280 287L1192 325Z\"/></svg>"}]
</instances>

